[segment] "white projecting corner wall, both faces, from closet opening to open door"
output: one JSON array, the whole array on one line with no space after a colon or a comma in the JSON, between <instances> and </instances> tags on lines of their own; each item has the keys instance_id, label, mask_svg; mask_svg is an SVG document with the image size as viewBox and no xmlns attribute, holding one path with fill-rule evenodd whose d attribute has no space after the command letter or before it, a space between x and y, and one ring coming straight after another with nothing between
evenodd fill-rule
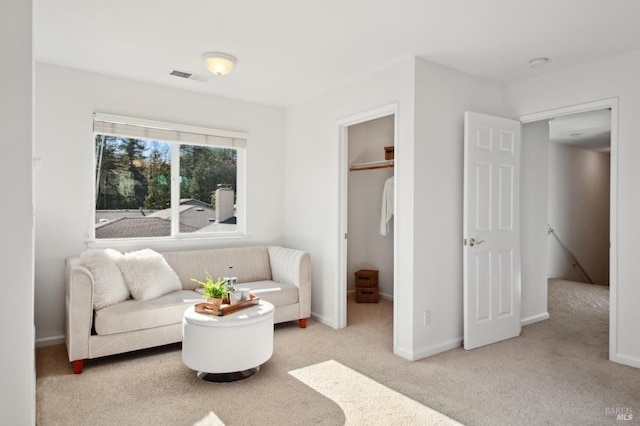
<instances>
[{"instance_id":1,"label":"white projecting corner wall, both faces, from closet opening to open door","mask_svg":"<svg viewBox=\"0 0 640 426\"><path fill-rule=\"evenodd\" d=\"M399 104L394 351L418 359L462 338L464 111L508 116L501 86L413 59L288 111L285 241L311 248L314 315L333 325L335 290L327 289L336 289L341 243L336 121L393 101ZM429 326L425 309L432 311Z\"/></svg>"}]
</instances>

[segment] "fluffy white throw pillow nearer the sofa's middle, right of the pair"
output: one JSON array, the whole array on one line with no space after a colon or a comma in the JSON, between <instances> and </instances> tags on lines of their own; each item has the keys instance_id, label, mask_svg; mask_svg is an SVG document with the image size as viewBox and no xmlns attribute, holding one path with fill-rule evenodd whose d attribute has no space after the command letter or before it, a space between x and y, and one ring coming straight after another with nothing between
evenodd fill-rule
<instances>
[{"instance_id":1,"label":"fluffy white throw pillow nearer the sofa's middle, right of the pair","mask_svg":"<svg viewBox=\"0 0 640 426\"><path fill-rule=\"evenodd\" d=\"M150 300L182 290L180 278L160 253L151 249L132 251L117 261L124 282L136 300Z\"/></svg>"}]
</instances>

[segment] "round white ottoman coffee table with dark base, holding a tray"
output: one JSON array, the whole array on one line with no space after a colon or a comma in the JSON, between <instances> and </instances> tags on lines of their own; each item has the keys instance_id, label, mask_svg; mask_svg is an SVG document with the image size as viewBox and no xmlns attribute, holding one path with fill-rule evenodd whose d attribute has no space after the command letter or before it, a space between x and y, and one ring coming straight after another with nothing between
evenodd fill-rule
<instances>
[{"instance_id":1,"label":"round white ottoman coffee table with dark base, holding a tray","mask_svg":"<svg viewBox=\"0 0 640 426\"><path fill-rule=\"evenodd\" d=\"M198 377L231 382L255 374L273 354L273 305L258 305L224 316L190 306L182 319L182 362Z\"/></svg>"}]
</instances>

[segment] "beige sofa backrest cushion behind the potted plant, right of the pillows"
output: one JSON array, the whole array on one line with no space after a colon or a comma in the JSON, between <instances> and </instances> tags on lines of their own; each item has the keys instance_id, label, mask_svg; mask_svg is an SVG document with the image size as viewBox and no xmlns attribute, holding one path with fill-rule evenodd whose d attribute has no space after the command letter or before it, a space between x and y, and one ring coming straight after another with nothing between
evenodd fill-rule
<instances>
[{"instance_id":1,"label":"beige sofa backrest cushion behind the potted plant, right of the pillows","mask_svg":"<svg viewBox=\"0 0 640 426\"><path fill-rule=\"evenodd\" d=\"M200 285L191 279L204 280L207 272L214 280L218 277L237 277L238 283L272 279L266 247L185 250L164 252L162 255L178 274L185 290L199 288ZM233 267L231 270L230 266Z\"/></svg>"}]
</instances>

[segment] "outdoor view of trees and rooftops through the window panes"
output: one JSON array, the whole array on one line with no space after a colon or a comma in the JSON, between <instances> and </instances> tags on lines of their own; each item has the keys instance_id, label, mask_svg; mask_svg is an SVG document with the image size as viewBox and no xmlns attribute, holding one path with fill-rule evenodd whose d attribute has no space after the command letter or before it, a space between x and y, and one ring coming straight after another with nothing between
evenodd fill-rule
<instances>
[{"instance_id":1,"label":"outdoor view of trees and rooftops through the window panes","mask_svg":"<svg viewBox=\"0 0 640 426\"><path fill-rule=\"evenodd\" d=\"M175 232L172 221L178 222L178 234L236 231L236 148L96 133L95 155L96 239L168 237ZM179 167L175 183L172 167ZM231 205L216 205L221 190L233 191L220 197ZM231 214L221 218L221 209Z\"/></svg>"}]
</instances>

